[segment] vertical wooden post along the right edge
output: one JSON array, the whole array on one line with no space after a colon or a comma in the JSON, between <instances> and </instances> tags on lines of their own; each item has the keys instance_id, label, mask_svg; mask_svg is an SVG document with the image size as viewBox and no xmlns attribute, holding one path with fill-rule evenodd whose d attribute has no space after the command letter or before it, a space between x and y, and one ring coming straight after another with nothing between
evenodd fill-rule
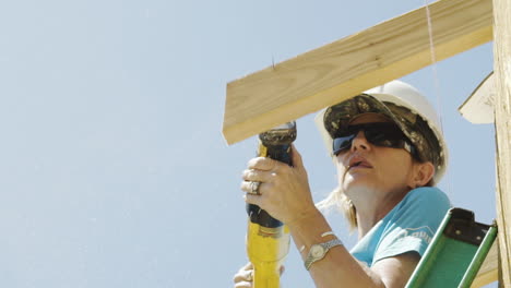
<instances>
[{"instance_id":1,"label":"vertical wooden post along the right edge","mask_svg":"<svg viewBox=\"0 0 511 288\"><path fill-rule=\"evenodd\" d=\"M511 288L511 2L495 7L495 132L497 136L497 221L501 284Z\"/></svg>"}]
</instances>

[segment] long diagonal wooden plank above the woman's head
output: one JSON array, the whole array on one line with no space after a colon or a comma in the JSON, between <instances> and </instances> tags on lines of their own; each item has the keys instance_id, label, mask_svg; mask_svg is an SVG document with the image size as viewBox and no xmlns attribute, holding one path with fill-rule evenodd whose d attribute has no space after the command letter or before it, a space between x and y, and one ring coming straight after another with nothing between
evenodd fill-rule
<instances>
[{"instance_id":1,"label":"long diagonal wooden plank above the woman's head","mask_svg":"<svg viewBox=\"0 0 511 288\"><path fill-rule=\"evenodd\" d=\"M492 38L491 0L429 7L437 60ZM227 84L228 144L347 99L431 63L425 8Z\"/></svg>"}]
</instances>

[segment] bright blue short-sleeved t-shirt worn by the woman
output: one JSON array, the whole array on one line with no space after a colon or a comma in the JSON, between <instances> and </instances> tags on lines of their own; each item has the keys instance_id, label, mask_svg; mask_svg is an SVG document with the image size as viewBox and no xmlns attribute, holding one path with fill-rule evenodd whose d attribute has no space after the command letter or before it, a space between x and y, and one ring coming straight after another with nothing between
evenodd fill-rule
<instances>
[{"instance_id":1,"label":"bright blue short-sleeved t-shirt worn by the woman","mask_svg":"<svg viewBox=\"0 0 511 288\"><path fill-rule=\"evenodd\" d=\"M369 267L379 260L411 251L423 256L449 208L448 196L438 188L414 189L357 242L350 253Z\"/></svg>"}]
</instances>

